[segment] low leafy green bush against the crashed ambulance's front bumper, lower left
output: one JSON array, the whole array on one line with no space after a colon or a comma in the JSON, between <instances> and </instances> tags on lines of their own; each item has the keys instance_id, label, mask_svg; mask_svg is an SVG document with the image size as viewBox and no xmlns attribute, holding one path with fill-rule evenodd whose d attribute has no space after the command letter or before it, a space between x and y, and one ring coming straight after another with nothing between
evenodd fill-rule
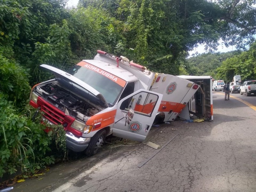
<instances>
[{"instance_id":1,"label":"low leafy green bush against the crashed ambulance's front bumper, lower left","mask_svg":"<svg viewBox=\"0 0 256 192\"><path fill-rule=\"evenodd\" d=\"M18 167L26 176L65 156L66 138L61 126L46 124L51 131L45 133L40 114L32 121L36 109L28 107L28 115L20 116L2 93L0 98L0 177L15 173Z\"/></svg>"}]
</instances>

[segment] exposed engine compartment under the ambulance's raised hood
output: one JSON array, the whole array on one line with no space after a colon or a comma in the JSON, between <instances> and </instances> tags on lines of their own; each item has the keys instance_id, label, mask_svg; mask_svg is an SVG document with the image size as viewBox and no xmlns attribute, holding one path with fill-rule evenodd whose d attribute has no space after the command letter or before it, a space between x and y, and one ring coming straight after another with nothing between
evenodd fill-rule
<instances>
[{"instance_id":1,"label":"exposed engine compartment under the ambulance's raised hood","mask_svg":"<svg viewBox=\"0 0 256 192\"><path fill-rule=\"evenodd\" d=\"M104 109L104 107L95 102L67 89L65 86L59 84L58 81L38 85L35 87L34 92L56 108L65 112L66 115L73 116L84 122L86 122L90 116ZM86 96L86 94L84 95Z\"/></svg>"}]
</instances>

